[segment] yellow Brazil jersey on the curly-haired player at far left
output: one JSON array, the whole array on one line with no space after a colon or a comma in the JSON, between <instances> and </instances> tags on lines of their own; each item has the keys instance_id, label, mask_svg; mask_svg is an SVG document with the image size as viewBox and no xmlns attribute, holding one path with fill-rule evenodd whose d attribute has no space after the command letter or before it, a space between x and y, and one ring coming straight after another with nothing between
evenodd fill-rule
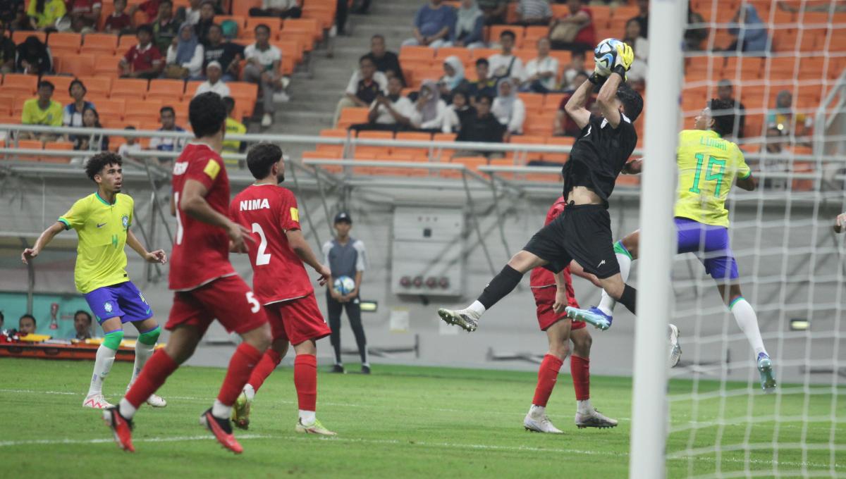
<instances>
[{"instance_id":1,"label":"yellow Brazil jersey on the curly-haired player at far left","mask_svg":"<svg viewBox=\"0 0 846 479\"><path fill-rule=\"evenodd\" d=\"M108 204L97 193L80 199L58 220L80 237L76 248L76 289L85 294L129 280L126 274L126 232L132 225L135 202L128 194Z\"/></svg>"}]
</instances>

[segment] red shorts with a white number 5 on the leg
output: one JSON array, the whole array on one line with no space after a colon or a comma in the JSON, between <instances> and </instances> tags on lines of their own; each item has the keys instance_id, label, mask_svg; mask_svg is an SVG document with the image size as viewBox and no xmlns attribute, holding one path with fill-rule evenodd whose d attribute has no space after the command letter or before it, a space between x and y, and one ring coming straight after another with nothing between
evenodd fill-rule
<instances>
[{"instance_id":1,"label":"red shorts with a white number 5 on the leg","mask_svg":"<svg viewBox=\"0 0 846 479\"><path fill-rule=\"evenodd\" d=\"M191 291L176 291L165 329L190 324L206 332L217 318L230 333L246 333L267 322L264 308L239 275L224 276Z\"/></svg>"}]
</instances>

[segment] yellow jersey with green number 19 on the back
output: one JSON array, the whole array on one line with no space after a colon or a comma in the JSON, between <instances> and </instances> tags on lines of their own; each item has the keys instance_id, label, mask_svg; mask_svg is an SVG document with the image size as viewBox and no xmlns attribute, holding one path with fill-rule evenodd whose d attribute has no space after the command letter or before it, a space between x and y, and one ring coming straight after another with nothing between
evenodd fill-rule
<instances>
[{"instance_id":1,"label":"yellow jersey with green number 19 on the back","mask_svg":"<svg viewBox=\"0 0 846 479\"><path fill-rule=\"evenodd\" d=\"M675 215L728 227L726 198L737 177L751 174L737 144L712 130L678 133L678 198Z\"/></svg>"}]
</instances>

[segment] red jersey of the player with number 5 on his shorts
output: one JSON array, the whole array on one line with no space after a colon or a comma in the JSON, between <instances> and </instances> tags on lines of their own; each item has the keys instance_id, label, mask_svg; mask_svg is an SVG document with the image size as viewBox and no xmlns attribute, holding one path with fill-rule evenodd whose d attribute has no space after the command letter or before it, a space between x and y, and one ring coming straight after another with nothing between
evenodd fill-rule
<instances>
[{"instance_id":1,"label":"red jersey of the player with number 5 on his shorts","mask_svg":"<svg viewBox=\"0 0 846 479\"><path fill-rule=\"evenodd\" d=\"M221 276L234 275L229 263L229 236L186 215L179 208L185 182L206 187L206 202L221 215L229 211L229 177L220 155L207 144L190 143L173 164L173 200L176 208L176 241L170 253L170 289L190 291Z\"/></svg>"}]
</instances>

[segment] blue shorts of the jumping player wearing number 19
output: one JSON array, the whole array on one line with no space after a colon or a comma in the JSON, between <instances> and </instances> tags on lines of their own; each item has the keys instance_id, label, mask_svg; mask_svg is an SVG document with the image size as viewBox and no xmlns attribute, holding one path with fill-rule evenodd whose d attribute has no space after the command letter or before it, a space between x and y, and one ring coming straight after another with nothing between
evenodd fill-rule
<instances>
[{"instance_id":1,"label":"blue shorts of the jumping player wearing number 19","mask_svg":"<svg viewBox=\"0 0 846 479\"><path fill-rule=\"evenodd\" d=\"M736 280L738 264L728 245L728 228L676 218L678 253L696 253L705 271L715 280Z\"/></svg>"}]
</instances>

